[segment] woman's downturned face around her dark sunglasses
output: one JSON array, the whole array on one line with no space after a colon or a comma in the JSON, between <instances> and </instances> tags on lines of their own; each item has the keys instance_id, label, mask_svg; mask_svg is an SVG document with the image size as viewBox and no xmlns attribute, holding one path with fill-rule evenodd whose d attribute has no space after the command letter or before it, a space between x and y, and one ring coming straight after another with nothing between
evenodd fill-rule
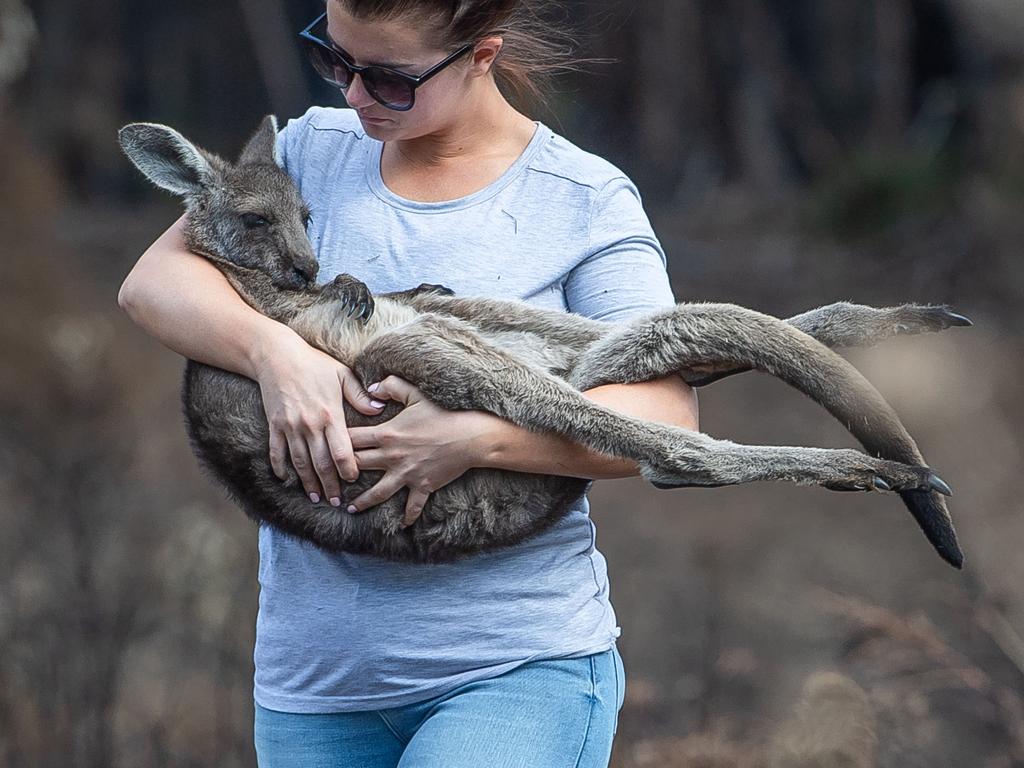
<instances>
[{"instance_id":1,"label":"woman's downturned face around her dark sunglasses","mask_svg":"<svg viewBox=\"0 0 1024 768\"><path fill-rule=\"evenodd\" d=\"M428 40L430 30L412 18L361 19L337 0L327 4L327 34L358 66L380 65L410 75L421 75L451 51ZM374 100L356 76L345 92L348 105L358 113L367 134L380 140L410 139L432 133L457 115L470 83L467 62L460 58L416 89L408 112L395 112Z\"/></svg>"}]
</instances>

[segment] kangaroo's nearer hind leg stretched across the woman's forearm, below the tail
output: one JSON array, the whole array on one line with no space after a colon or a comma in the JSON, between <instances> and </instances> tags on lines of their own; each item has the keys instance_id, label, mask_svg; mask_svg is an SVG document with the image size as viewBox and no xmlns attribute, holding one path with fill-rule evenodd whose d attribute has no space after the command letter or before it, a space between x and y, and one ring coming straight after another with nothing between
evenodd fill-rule
<instances>
[{"instance_id":1,"label":"kangaroo's nearer hind leg stretched across the woman's forearm, below the tail","mask_svg":"<svg viewBox=\"0 0 1024 768\"><path fill-rule=\"evenodd\" d=\"M451 321L423 316L371 342L354 364L364 381L400 376L433 402L481 410L536 432L555 432L631 459L663 486L790 480L849 490L930 487L927 467L857 451L741 445L620 414Z\"/></svg>"}]
</instances>

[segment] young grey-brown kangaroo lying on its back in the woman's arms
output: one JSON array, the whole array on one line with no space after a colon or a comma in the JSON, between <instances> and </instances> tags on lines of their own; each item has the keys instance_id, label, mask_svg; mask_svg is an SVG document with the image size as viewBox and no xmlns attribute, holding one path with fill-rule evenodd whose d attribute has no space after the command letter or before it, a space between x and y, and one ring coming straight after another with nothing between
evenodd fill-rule
<instances>
[{"instance_id":1,"label":"young grey-brown kangaroo lying on its back in the woman's arms","mask_svg":"<svg viewBox=\"0 0 1024 768\"><path fill-rule=\"evenodd\" d=\"M566 435L636 461L657 487L791 480L836 490L893 490L929 541L959 567L963 555L938 494L896 414L825 344L870 344L895 333L970 325L946 307L874 309L835 304L783 322L730 304L681 304L628 325L542 310L516 301L458 298L440 286L372 296L348 274L314 285L308 210L275 159L267 116L231 165L163 125L134 123L119 137L154 183L184 199L185 242L216 264L255 309L350 367L365 382L400 376L449 410L482 410L535 431ZM742 445L602 408L580 390L678 373L694 385L757 369L813 397L860 440L853 450ZM309 503L282 483L267 452L258 385L189 361L184 409L202 462L256 520L330 550L438 562L515 544L560 517L586 489L577 478L476 469L431 495L406 528L404 494L349 515ZM394 416L389 403L350 426ZM869 455L868 455L869 454ZM362 472L344 502L373 485ZM343 504L344 506L344 504Z\"/></svg>"}]
</instances>

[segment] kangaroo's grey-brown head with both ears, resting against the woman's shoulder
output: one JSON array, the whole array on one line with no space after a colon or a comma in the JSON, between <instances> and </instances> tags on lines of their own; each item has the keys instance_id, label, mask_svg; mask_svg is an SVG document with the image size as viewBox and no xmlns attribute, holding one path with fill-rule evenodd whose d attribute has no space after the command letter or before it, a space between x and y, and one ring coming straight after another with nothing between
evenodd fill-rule
<instances>
[{"instance_id":1,"label":"kangaroo's grey-brown head with both ears, resting against the woman's shoulder","mask_svg":"<svg viewBox=\"0 0 1024 768\"><path fill-rule=\"evenodd\" d=\"M278 122L267 115L234 165L166 125L131 123L118 139L146 178L184 199L191 250L298 290L314 282L317 264L306 237L309 209L278 165L276 134Z\"/></svg>"}]
</instances>

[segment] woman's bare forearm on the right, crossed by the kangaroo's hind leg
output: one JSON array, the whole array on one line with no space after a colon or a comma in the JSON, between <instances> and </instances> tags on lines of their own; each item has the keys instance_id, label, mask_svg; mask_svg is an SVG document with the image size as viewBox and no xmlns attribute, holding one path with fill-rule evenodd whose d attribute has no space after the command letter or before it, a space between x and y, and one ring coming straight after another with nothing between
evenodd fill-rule
<instances>
[{"instance_id":1,"label":"woman's bare forearm on the right, crossed by the kangaroo's hind leg","mask_svg":"<svg viewBox=\"0 0 1024 768\"><path fill-rule=\"evenodd\" d=\"M699 428L696 392L678 376L641 384L609 384L584 395L613 411L645 421ZM518 472L609 479L639 474L636 462L600 454L561 435L530 432L495 417L482 447L482 464Z\"/></svg>"}]
</instances>

